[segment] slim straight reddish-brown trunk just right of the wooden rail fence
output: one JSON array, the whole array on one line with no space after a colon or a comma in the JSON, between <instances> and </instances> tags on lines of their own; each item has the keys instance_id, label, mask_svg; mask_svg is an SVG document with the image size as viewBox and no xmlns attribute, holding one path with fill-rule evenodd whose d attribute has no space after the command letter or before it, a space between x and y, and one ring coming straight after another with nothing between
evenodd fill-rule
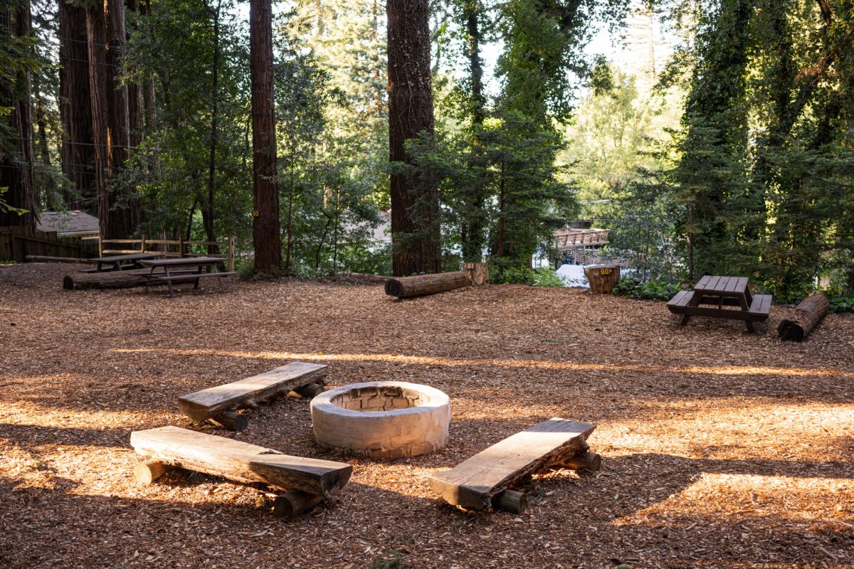
<instances>
[{"instance_id":1,"label":"slim straight reddish-brown trunk just right of the wooden rail fence","mask_svg":"<svg viewBox=\"0 0 854 569\"><path fill-rule=\"evenodd\" d=\"M254 270L275 274L282 266L282 237L276 181L271 0L249 0L249 77L252 83Z\"/></svg>"}]
</instances>

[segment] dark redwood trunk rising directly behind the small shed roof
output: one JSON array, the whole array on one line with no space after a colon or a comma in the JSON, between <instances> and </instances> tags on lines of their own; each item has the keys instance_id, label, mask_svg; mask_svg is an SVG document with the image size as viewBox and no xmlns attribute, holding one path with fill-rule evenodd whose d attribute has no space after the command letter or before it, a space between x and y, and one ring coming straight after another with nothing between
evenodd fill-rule
<instances>
[{"instance_id":1,"label":"dark redwood trunk rising directly behind the small shed roof","mask_svg":"<svg viewBox=\"0 0 854 569\"><path fill-rule=\"evenodd\" d=\"M62 173L77 189L65 192L69 209L83 209L96 195L95 148L92 146L92 106L89 92L89 52L86 49L85 10L59 3L60 117ZM94 209L89 206L87 209Z\"/></svg>"}]
</instances>

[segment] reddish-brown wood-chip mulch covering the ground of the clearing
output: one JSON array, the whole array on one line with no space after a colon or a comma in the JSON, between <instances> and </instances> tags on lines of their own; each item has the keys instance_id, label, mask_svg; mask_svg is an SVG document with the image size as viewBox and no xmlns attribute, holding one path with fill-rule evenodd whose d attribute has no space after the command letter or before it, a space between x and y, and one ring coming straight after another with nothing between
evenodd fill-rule
<instances>
[{"instance_id":1,"label":"reddish-brown wood-chip mulch covering the ground of the clearing","mask_svg":"<svg viewBox=\"0 0 854 569\"><path fill-rule=\"evenodd\" d=\"M777 306L746 334L572 289L399 301L376 284L236 282L170 299L65 291L69 270L0 267L0 566L854 566L854 315L793 344L776 337ZM249 411L237 434L178 413L178 395L292 360L328 364L332 386L447 392L450 444L392 461L321 450L295 397ZM430 491L434 469L553 416L598 425L600 473L535 477L520 515ZM354 475L287 521L225 479L137 485L130 433L163 425Z\"/></svg>"}]
</instances>

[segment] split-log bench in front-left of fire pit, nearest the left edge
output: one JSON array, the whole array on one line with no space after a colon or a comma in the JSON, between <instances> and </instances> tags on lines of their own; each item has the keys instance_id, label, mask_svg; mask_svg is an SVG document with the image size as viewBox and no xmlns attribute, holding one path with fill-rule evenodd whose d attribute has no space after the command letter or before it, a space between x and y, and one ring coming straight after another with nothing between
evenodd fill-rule
<instances>
[{"instance_id":1,"label":"split-log bench in front-left of fire pit, nearest the left edge","mask_svg":"<svg viewBox=\"0 0 854 569\"><path fill-rule=\"evenodd\" d=\"M273 514L279 517L313 508L341 490L353 473L353 467L343 462L284 455L278 450L179 427L131 433L131 446L148 458L134 469L137 481L143 484L160 478L170 467L244 484L260 482L288 491L273 502Z\"/></svg>"}]
</instances>

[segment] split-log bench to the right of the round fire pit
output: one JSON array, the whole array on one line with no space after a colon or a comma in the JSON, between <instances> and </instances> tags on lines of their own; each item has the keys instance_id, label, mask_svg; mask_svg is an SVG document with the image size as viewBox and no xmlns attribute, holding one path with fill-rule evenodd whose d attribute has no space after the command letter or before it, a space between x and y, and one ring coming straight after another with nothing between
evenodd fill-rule
<instances>
[{"instance_id":1,"label":"split-log bench to the right of the round fire pit","mask_svg":"<svg viewBox=\"0 0 854 569\"><path fill-rule=\"evenodd\" d=\"M595 428L554 417L493 444L450 470L433 473L430 487L446 502L463 508L522 512L528 498L512 487L529 476L561 468L599 470L601 458L588 452L587 444Z\"/></svg>"}]
</instances>

